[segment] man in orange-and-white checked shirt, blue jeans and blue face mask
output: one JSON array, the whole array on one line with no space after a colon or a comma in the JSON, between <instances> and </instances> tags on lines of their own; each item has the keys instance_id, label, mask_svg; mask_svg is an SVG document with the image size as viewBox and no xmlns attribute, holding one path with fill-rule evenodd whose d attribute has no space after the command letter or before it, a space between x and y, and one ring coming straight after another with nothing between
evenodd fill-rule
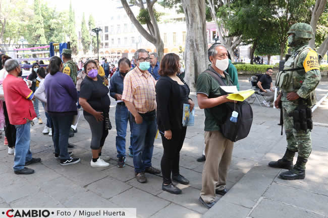
<instances>
[{"instance_id":1,"label":"man in orange-and-white checked shirt, blue jeans and blue face mask","mask_svg":"<svg viewBox=\"0 0 328 218\"><path fill-rule=\"evenodd\" d=\"M159 174L151 166L157 130L155 80L149 74L149 54L145 49L134 53L136 67L124 78L122 100L130 111L133 164L138 182L146 183L146 173Z\"/></svg>"}]
</instances>

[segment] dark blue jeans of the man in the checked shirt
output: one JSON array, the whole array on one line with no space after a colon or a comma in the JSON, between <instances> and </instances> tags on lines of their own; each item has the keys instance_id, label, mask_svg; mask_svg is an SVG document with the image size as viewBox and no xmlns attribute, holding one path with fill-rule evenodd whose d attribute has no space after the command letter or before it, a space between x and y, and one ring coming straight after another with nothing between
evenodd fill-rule
<instances>
[{"instance_id":1,"label":"dark blue jeans of the man in the checked shirt","mask_svg":"<svg viewBox=\"0 0 328 218\"><path fill-rule=\"evenodd\" d=\"M154 140L157 131L156 117L153 120L143 117L142 123L137 124L130 113L132 123L133 165L136 173L145 172L151 167Z\"/></svg>"}]
</instances>

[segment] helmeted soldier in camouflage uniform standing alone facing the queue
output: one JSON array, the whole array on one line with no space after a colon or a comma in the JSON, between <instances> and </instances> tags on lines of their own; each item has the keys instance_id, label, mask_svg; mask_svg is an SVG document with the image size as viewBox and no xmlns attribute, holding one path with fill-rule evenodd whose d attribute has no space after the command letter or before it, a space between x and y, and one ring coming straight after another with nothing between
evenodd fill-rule
<instances>
[{"instance_id":1,"label":"helmeted soldier in camouflage uniform standing alone facing the queue","mask_svg":"<svg viewBox=\"0 0 328 218\"><path fill-rule=\"evenodd\" d=\"M287 79L287 82L280 87L282 92L275 102L278 108L282 101L287 150L282 159L270 162L269 166L288 169L289 171L280 174L280 178L295 180L305 178L305 164L312 151L312 144L310 129L296 130L293 112L300 105L311 108L315 103L314 90L320 82L321 75L318 55L308 45L308 41L313 37L312 27L297 23L291 26L288 34L288 45L292 48L292 54L285 62L284 70L293 69L293 71L289 70L289 80ZM293 166L296 152L298 152L297 162Z\"/></svg>"}]
</instances>

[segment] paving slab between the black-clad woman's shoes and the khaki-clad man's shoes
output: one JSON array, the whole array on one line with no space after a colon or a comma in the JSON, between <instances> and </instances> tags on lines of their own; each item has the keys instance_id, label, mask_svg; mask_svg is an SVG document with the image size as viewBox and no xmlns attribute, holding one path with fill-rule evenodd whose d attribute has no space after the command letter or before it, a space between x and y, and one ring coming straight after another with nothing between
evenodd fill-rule
<instances>
[{"instance_id":1,"label":"paving slab between the black-clad woman's shoes and the khaki-clad man's shoes","mask_svg":"<svg viewBox=\"0 0 328 218\"><path fill-rule=\"evenodd\" d=\"M178 187L181 188L181 186ZM163 191L158 195L158 197L187 207L199 213L204 213L207 211L207 209L198 200L199 194L200 191L198 189L186 186L185 188L182 188L182 194L171 194L169 192Z\"/></svg>"}]
</instances>

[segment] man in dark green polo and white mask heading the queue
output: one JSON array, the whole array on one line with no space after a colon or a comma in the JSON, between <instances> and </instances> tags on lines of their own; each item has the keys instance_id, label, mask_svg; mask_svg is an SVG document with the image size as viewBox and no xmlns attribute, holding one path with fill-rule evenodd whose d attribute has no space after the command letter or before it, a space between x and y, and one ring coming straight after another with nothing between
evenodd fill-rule
<instances>
[{"instance_id":1,"label":"man in dark green polo and white mask heading the queue","mask_svg":"<svg viewBox=\"0 0 328 218\"><path fill-rule=\"evenodd\" d=\"M232 85L231 78L224 71L229 65L228 51L222 44L213 44L208 49L211 65L207 70L220 77L227 86ZM220 132L220 120L226 117L224 103L234 102L223 95L217 80L204 71L197 79L197 100L200 109L205 112L205 156L202 173L202 190L199 200L210 208L215 203L215 194L227 193L227 173L231 163L234 142Z\"/></svg>"}]
</instances>

